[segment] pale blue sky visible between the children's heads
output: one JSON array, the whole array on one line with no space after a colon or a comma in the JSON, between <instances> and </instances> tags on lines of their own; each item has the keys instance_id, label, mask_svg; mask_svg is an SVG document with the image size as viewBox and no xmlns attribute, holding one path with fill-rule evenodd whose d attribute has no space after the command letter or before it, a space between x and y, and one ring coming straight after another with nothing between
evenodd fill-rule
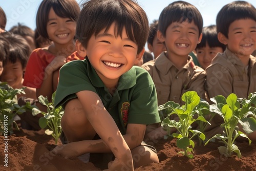
<instances>
[{"instance_id":1,"label":"pale blue sky visible between the children's heads","mask_svg":"<svg viewBox=\"0 0 256 171\"><path fill-rule=\"evenodd\" d=\"M154 19L158 19L162 9L174 1L168 0L137 0L140 6L147 13L150 23ZM17 23L24 24L35 29L36 11L41 1L39 0L0 0L0 6L7 15L6 30L9 30ZM77 0L78 3L83 2ZM204 26L215 24L215 18L219 10L226 4L232 2L230 0L187 0L186 2L195 5L201 12L204 20ZM247 1L256 7L255 0Z\"/></svg>"}]
</instances>

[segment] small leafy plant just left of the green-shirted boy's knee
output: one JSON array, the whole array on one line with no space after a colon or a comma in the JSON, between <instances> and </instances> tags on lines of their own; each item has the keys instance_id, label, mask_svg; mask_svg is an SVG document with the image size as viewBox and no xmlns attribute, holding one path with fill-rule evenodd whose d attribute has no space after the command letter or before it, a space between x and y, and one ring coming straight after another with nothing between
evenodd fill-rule
<instances>
[{"instance_id":1,"label":"small leafy plant just left of the green-shirted boy's knee","mask_svg":"<svg viewBox=\"0 0 256 171\"><path fill-rule=\"evenodd\" d=\"M55 94L56 92L52 94L52 101L54 101ZM42 95L38 97L38 101L42 105L47 106L47 112L42 112L42 111L39 111L38 109L33 109L33 115L37 115L39 113L44 115L44 117L41 117L39 119L39 126L41 127L41 129L47 128L45 133L47 135L52 135L53 138L55 139L55 144L57 144L58 138L60 137L60 134L62 131L60 120L64 111L61 108L61 106L59 108L54 108L54 103L49 102L48 98Z\"/></svg>"}]
</instances>

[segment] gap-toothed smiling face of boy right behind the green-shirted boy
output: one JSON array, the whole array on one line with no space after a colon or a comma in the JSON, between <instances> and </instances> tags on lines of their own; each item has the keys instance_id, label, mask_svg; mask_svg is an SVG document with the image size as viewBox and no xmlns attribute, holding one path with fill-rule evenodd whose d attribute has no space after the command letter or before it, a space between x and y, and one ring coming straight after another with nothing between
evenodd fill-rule
<instances>
[{"instance_id":1,"label":"gap-toothed smiling face of boy right behind the green-shirted boy","mask_svg":"<svg viewBox=\"0 0 256 171\"><path fill-rule=\"evenodd\" d=\"M194 22L188 23L187 21L170 24L165 33L163 36L158 31L158 38L160 41L165 41L167 53L173 57L187 57L190 52L196 49L202 38L199 37L199 29Z\"/></svg>"}]
</instances>

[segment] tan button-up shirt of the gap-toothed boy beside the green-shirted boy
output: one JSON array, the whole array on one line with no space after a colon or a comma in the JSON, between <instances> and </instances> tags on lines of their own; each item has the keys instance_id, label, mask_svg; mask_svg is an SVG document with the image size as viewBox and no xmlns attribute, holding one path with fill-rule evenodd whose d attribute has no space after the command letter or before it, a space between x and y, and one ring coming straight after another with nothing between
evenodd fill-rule
<instances>
[{"instance_id":1,"label":"tan button-up shirt of the gap-toothed boy beside the green-shirted boy","mask_svg":"<svg viewBox=\"0 0 256 171\"><path fill-rule=\"evenodd\" d=\"M155 83L158 105L167 101L184 104L181 96L187 91L196 91L205 99L206 73L202 68L195 66L191 56L188 56L188 62L180 70L165 56L165 52L156 60L148 61L141 67L150 73Z\"/></svg>"}]
</instances>

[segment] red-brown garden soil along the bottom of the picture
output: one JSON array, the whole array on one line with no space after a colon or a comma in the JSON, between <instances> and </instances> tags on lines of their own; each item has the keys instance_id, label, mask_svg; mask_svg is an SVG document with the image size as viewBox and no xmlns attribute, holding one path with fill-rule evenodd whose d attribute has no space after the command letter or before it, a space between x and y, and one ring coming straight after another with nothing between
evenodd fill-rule
<instances>
[{"instance_id":1,"label":"red-brown garden soil along the bottom of the picture","mask_svg":"<svg viewBox=\"0 0 256 171\"><path fill-rule=\"evenodd\" d=\"M50 154L55 147L51 136L44 131L15 131L15 135L8 137L8 167L4 166L5 144L4 137L0 136L0 170L101 170L93 163L82 163L78 158L64 159L61 156ZM61 144L59 141L58 144ZM242 158L236 155L225 157L220 155L220 142L210 142L206 146L196 143L194 159L178 155L176 139L157 140L154 146L158 151L160 163L152 163L136 168L135 171L147 170L256 170L256 143L249 145L248 141L237 142Z\"/></svg>"}]
</instances>

